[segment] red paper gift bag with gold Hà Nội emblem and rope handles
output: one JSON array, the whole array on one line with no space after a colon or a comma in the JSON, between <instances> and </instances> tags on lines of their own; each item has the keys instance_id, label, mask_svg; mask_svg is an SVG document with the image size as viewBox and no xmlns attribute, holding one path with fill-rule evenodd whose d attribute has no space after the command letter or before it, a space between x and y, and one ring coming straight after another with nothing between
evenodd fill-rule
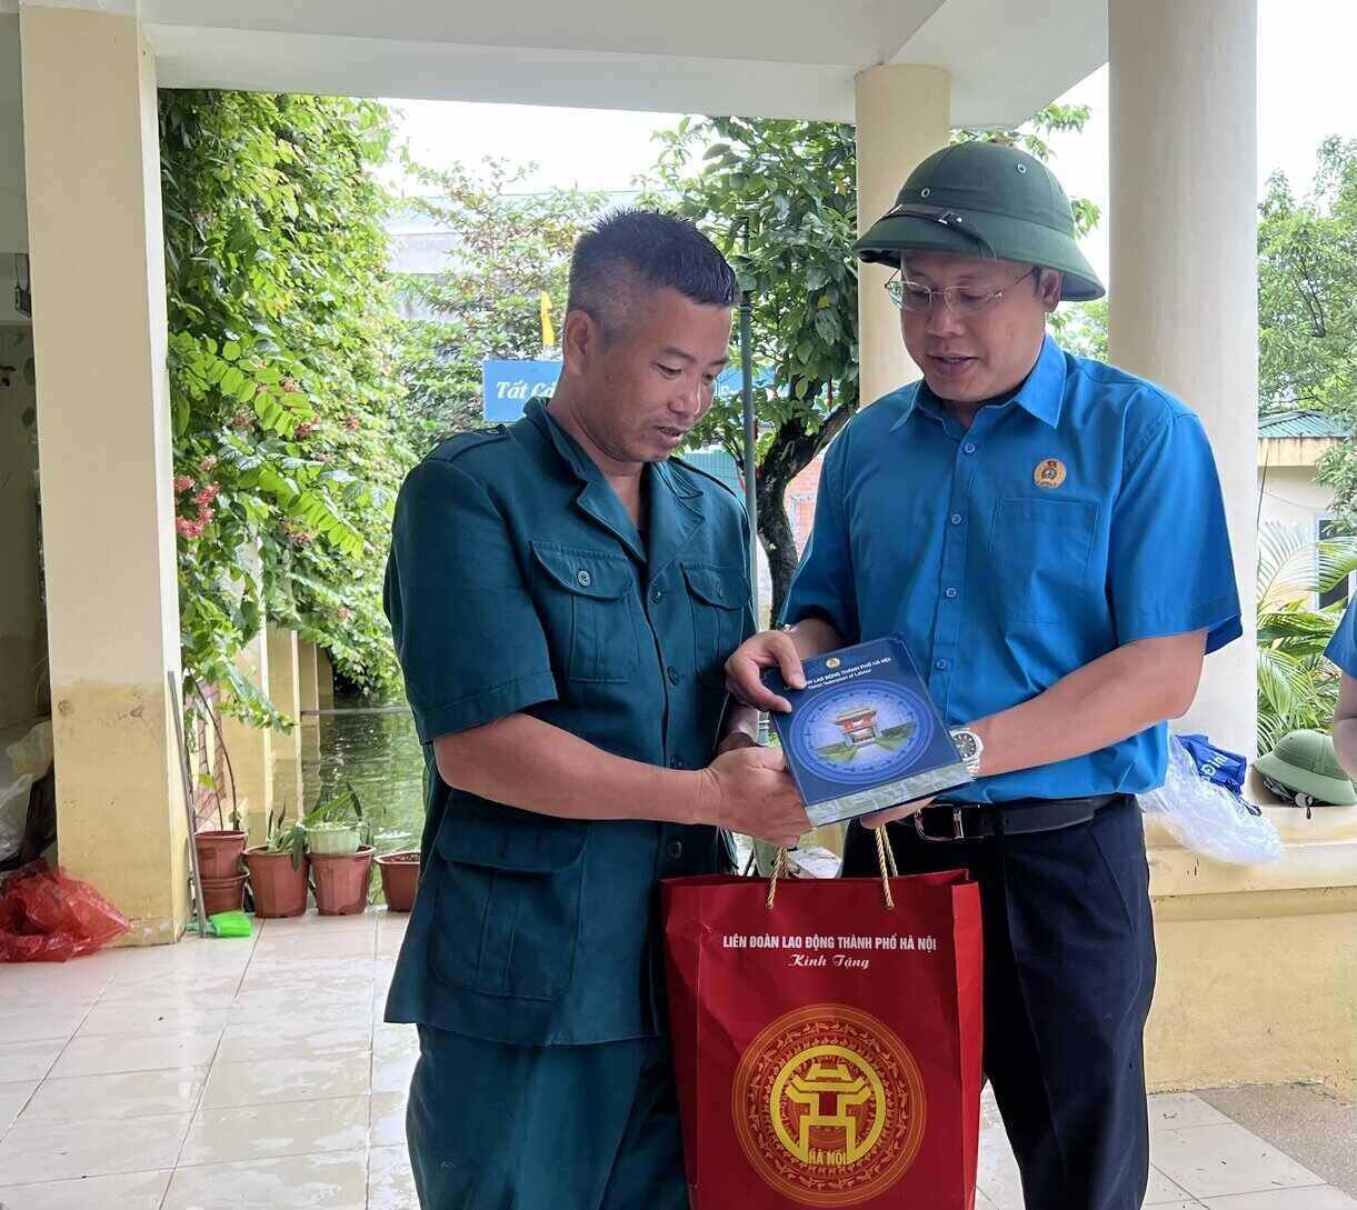
<instances>
[{"instance_id":1,"label":"red paper gift bag with gold H\u00e0 N\u1ed9i emblem and rope handles","mask_svg":"<svg viewBox=\"0 0 1357 1210\"><path fill-rule=\"evenodd\" d=\"M779 880L782 857L661 883L692 1210L973 1210L978 889Z\"/></svg>"}]
</instances>

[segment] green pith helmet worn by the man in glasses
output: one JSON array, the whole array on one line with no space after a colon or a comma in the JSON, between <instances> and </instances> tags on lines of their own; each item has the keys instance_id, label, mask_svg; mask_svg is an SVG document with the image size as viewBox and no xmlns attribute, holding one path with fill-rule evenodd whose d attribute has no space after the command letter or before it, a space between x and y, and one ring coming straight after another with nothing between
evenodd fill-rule
<instances>
[{"instance_id":1,"label":"green pith helmet worn by the man in glasses","mask_svg":"<svg viewBox=\"0 0 1357 1210\"><path fill-rule=\"evenodd\" d=\"M1063 300L1106 293L1075 243L1075 216L1054 174L997 142L957 142L928 156L854 251L882 265L898 265L901 252L1016 260L1063 273Z\"/></svg>"}]
</instances>

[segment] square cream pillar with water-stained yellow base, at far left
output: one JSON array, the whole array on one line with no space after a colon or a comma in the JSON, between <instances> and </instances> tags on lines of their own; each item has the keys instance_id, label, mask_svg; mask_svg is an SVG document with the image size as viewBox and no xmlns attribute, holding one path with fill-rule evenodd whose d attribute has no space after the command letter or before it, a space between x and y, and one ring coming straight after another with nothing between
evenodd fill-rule
<instances>
[{"instance_id":1,"label":"square cream pillar with water-stained yellow base, at far left","mask_svg":"<svg viewBox=\"0 0 1357 1210\"><path fill-rule=\"evenodd\" d=\"M155 58L132 18L23 5L60 857L170 941L187 827Z\"/></svg>"}]
</instances>

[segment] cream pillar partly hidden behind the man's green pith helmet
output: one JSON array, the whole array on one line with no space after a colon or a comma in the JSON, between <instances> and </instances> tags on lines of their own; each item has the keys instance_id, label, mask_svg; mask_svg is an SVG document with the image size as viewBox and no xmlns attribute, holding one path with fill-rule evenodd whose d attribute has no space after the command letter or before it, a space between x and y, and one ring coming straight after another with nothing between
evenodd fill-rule
<instances>
[{"instance_id":1,"label":"cream pillar partly hidden behind the man's green pith helmet","mask_svg":"<svg viewBox=\"0 0 1357 1210\"><path fill-rule=\"evenodd\" d=\"M951 129L951 76L942 68L867 68L856 79L858 231L894 203L917 164L946 147ZM883 289L892 270L858 266L858 349L862 402L919 377L905 351L900 312Z\"/></svg>"}]
</instances>

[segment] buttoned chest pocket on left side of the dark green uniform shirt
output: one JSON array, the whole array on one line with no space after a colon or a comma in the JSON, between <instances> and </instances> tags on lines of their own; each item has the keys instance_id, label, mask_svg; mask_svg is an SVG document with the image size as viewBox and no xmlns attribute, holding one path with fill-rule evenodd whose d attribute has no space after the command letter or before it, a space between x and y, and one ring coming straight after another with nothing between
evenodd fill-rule
<instances>
[{"instance_id":1,"label":"buttoned chest pocket on left side of the dark green uniform shirt","mask_svg":"<svg viewBox=\"0 0 1357 1210\"><path fill-rule=\"evenodd\" d=\"M636 674L636 574L624 555L532 543L544 572L540 601L552 663L571 681Z\"/></svg>"}]
</instances>

